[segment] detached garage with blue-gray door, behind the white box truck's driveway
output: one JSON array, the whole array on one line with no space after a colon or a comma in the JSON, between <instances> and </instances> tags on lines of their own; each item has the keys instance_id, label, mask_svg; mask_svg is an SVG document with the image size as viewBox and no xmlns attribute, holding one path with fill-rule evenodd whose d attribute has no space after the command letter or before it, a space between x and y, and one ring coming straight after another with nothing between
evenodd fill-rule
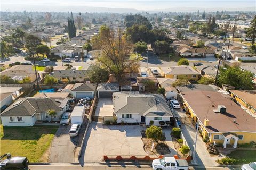
<instances>
[{"instance_id":1,"label":"detached garage with blue-gray door, behind the white box truck's driveway","mask_svg":"<svg viewBox=\"0 0 256 170\"><path fill-rule=\"evenodd\" d=\"M71 94L77 99L93 99L95 89L96 86L92 83L76 83L71 89Z\"/></svg>"}]
</instances>

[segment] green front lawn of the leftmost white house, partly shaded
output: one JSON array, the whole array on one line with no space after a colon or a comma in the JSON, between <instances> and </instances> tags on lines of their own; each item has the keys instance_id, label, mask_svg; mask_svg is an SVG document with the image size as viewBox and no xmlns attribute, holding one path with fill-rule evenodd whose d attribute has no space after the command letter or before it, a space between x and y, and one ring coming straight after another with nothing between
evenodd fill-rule
<instances>
[{"instance_id":1,"label":"green front lawn of the leftmost white house, partly shaded","mask_svg":"<svg viewBox=\"0 0 256 170\"><path fill-rule=\"evenodd\" d=\"M47 162L42 155L50 147L58 126L4 127L0 155L26 156L29 162ZM3 132L3 136L2 136Z\"/></svg>"}]
</instances>

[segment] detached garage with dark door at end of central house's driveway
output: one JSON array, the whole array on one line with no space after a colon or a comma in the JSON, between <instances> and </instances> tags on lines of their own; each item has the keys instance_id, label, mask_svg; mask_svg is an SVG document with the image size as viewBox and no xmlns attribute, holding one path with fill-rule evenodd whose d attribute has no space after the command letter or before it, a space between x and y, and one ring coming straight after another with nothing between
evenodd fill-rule
<instances>
[{"instance_id":1,"label":"detached garage with dark door at end of central house's driveway","mask_svg":"<svg viewBox=\"0 0 256 170\"><path fill-rule=\"evenodd\" d=\"M97 87L99 98L112 98L113 92L119 91L118 83L101 83Z\"/></svg>"}]
</instances>

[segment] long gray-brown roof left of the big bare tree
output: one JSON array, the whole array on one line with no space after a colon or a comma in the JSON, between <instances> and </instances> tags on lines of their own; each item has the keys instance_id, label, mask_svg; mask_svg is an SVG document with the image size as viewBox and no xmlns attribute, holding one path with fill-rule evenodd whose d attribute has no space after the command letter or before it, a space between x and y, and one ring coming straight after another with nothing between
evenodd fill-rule
<instances>
[{"instance_id":1,"label":"long gray-brown roof left of the big bare tree","mask_svg":"<svg viewBox=\"0 0 256 170\"><path fill-rule=\"evenodd\" d=\"M54 70L53 77L87 77L87 70Z\"/></svg>"}]
</instances>

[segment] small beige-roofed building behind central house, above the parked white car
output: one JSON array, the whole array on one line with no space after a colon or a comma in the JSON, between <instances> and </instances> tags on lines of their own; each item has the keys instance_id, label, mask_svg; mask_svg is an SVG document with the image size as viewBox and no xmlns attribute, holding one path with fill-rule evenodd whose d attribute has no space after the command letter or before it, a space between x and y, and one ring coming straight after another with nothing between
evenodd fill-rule
<instances>
[{"instance_id":1,"label":"small beige-roofed building behind central house, above the parked white car","mask_svg":"<svg viewBox=\"0 0 256 170\"><path fill-rule=\"evenodd\" d=\"M177 79L166 79L166 78L157 78L159 86L165 89L165 97L167 99L177 99L178 92L175 87L172 86Z\"/></svg>"}]
</instances>

